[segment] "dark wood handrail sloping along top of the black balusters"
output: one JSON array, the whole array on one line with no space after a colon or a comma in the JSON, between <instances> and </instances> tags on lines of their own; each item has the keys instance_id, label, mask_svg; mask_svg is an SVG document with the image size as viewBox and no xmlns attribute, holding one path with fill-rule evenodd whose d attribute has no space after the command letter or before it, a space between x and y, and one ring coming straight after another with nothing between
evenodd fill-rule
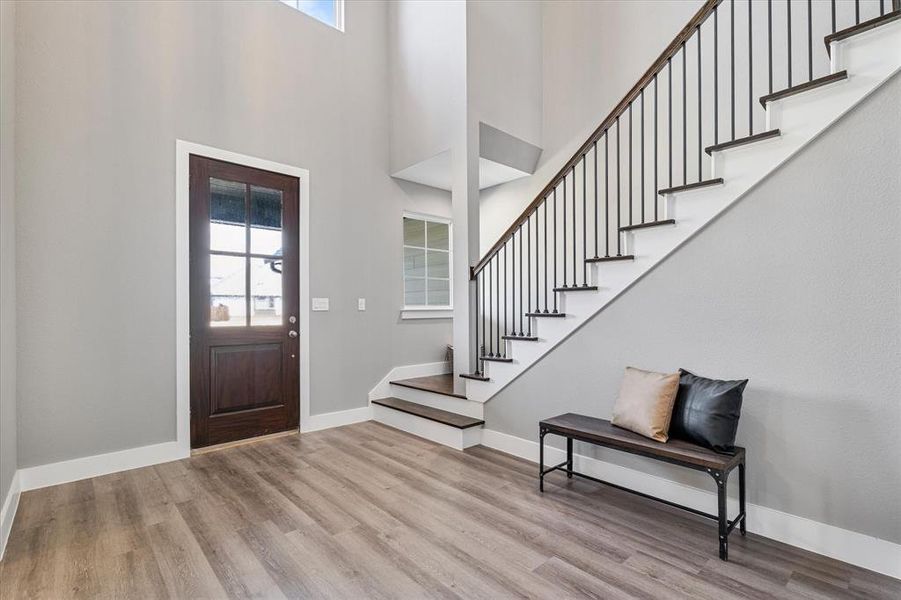
<instances>
[{"instance_id":1,"label":"dark wood handrail sloping along top of the black balusters","mask_svg":"<svg viewBox=\"0 0 901 600\"><path fill-rule=\"evenodd\" d=\"M479 260L478 263L475 264L470 269L471 278L475 279L476 275L485 268L495 254L507 243L507 240L513 235L520 225L526 222L528 218L531 216L532 212L541 205L542 202L545 201L547 196L557 187L561 181L565 178L566 174L569 173L570 169L572 169L581 159L582 155L587 153L591 147L594 145L596 141L598 141L604 132L614 123L616 122L617 117L621 116L626 108L635 101L638 95L641 93L641 90L644 89L651 81L654 79L654 75L659 72L666 62L675 56L676 52L685 43L691 36L694 34L695 29L701 25L707 17L709 17L713 13L713 9L716 8L722 0L706 0L704 5L698 10L697 13L691 18L685 27L676 35L672 42L670 42L669 46L666 47L660 56L657 57L657 60L654 61L654 64L645 71L644 75L638 80L638 82L632 86L632 89L625 95L625 97L619 101L610 114L604 119L600 125L598 125L597 129L591 134L582 146L573 154L572 158L570 158L563 168L560 169L557 174L551 179L550 183L544 186L544 189L535 197L532 202L522 211L522 213L513 221L513 224L507 228L507 230L501 235L500 238L494 243L490 250Z\"/></svg>"}]
</instances>

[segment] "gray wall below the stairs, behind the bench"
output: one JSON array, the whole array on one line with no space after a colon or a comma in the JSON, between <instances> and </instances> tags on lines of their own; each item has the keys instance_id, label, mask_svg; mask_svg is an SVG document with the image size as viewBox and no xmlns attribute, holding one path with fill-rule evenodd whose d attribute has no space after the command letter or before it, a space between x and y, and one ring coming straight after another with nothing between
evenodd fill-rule
<instances>
[{"instance_id":1,"label":"gray wall below the stairs, behind the bench","mask_svg":"<svg viewBox=\"0 0 901 600\"><path fill-rule=\"evenodd\" d=\"M896 75L490 400L487 427L609 418L627 365L747 377L749 501L901 542L898 98Z\"/></svg>"}]
</instances>

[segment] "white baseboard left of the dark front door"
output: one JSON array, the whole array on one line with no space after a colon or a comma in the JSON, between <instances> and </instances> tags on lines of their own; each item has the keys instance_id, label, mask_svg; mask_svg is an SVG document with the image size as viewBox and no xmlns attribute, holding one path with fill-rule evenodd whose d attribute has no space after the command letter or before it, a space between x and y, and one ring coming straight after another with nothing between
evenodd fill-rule
<instances>
[{"instance_id":1,"label":"white baseboard left of the dark front door","mask_svg":"<svg viewBox=\"0 0 901 600\"><path fill-rule=\"evenodd\" d=\"M179 448L177 442L163 442L19 469L19 482L22 491L26 492L51 485L181 460L188 456L190 456L190 452Z\"/></svg>"}]
</instances>

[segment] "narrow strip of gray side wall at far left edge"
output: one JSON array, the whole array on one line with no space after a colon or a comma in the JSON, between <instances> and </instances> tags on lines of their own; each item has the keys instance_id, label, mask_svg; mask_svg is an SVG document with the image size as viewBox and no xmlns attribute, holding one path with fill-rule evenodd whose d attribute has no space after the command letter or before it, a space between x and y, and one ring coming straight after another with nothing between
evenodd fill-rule
<instances>
[{"instance_id":1,"label":"narrow strip of gray side wall at far left edge","mask_svg":"<svg viewBox=\"0 0 901 600\"><path fill-rule=\"evenodd\" d=\"M16 472L15 32L0 2L0 504Z\"/></svg>"}]
</instances>

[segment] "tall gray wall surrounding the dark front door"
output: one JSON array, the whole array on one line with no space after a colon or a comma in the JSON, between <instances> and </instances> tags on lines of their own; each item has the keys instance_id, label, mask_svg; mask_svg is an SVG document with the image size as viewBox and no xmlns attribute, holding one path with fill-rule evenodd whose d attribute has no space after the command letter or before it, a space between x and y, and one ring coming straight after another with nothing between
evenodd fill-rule
<instances>
[{"instance_id":1,"label":"tall gray wall surrounding the dark front door","mask_svg":"<svg viewBox=\"0 0 901 600\"><path fill-rule=\"evenodd\" d=\"M314 414L443 358L448 321L399 322L401 212L447 200L387 175L385 3L346 33L277 2L17 19L20 467L174 439L176 138L310 170Z\"/></svg>"}]
</instances>

